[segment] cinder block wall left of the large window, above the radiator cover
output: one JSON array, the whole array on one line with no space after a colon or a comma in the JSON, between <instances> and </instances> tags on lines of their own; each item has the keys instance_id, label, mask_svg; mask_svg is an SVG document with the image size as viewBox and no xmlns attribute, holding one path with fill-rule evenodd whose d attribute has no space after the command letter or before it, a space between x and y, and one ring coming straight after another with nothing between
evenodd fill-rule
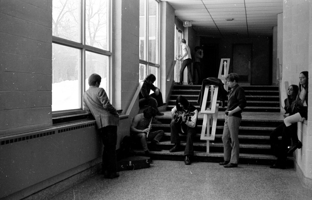
<instances>
[{"instance_id":1,"label":"cinder block wall left of the large window, above the radiator cover","mask_svg":"<svg viewBox=\"0 0 312 200\"><path fill-rule=\"evenodd\" d=\"M52 1L0 1L0 136L52 125Z\"/></svg>"}]
</instances>

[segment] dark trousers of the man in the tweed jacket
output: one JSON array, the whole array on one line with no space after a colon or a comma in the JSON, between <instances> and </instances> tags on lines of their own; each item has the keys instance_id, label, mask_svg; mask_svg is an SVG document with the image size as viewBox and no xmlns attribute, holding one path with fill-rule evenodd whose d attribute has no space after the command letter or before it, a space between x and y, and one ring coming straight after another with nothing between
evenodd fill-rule
<instances>
[{"instance_id":1,"label":"dark trousers of the man in the tweed jacket","mask_svg":"<svg viewBox=\"0 0 312 200\"><path fill-rule=\"evenodd\" d=\"M117 126L105 126L99 129L102 142L104 144L102 165L109 173L116 172L116 144L117 144Z\"/></svg>"}]
</instances>

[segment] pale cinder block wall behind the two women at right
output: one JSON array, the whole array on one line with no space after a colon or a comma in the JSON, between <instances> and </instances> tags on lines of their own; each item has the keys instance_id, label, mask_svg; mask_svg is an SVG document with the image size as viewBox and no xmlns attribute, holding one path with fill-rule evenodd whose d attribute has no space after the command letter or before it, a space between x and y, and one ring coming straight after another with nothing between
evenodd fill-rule
<instances>
[{"instance_id":1,"label":"pale cinder block wall behind the two women at right","mask_svg":"<svg viewBox=\"0 0 312 200\"><path fill-rule=\"evenodd\" d=\"M299 84L301 71L312 71L312 2L289 0L283 4L283 79L281 98L286 98L285 81ZM310 80L309 87L312 87ZM312 187L312 90L309 90L308 121L298 129L302 149L296 151L296 162L305 182ZM306 128L305 128L306 126Z\"/></svg>"}]
</instances>

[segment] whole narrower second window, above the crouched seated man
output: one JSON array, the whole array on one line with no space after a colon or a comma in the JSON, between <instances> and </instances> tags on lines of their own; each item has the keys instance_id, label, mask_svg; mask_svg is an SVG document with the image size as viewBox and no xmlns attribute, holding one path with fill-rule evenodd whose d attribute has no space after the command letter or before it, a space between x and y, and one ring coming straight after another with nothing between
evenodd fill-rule
<instances>
[{"instance_id":1,"label":"whole narrower second window, above the crouched seated man","mask_svg":"<svg viewBox=\"0 0 312 200\"><path fill-rule=\"evenodd\" d=\"M159 83L159 2L140 0L139 79L153 73Z\"/></svg>"}]
</instances>

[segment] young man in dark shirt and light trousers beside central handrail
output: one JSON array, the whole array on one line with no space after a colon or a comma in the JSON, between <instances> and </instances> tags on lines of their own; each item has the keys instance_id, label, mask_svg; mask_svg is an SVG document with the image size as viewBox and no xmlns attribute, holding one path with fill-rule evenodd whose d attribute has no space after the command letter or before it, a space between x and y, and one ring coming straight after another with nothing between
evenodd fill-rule
<instances>
[{"instance_id":1,"label":"young man in dark shirt and light trousers beside central handrail","mask_svg":"<svg viewBox=\"0 0 312 200\"><path fill-rule=\"evenodd\" d=\"M219 163L225 168L237 167L239 158L238 130L241 124L241 112L246 107L245 91L238 85L239 76L231 73L226 77L227 85L231 88L225 111L225 122L222 134L224 146L224 161ZM232 147L231 140L232 139Z\"/></svg>"}]
</instances>

